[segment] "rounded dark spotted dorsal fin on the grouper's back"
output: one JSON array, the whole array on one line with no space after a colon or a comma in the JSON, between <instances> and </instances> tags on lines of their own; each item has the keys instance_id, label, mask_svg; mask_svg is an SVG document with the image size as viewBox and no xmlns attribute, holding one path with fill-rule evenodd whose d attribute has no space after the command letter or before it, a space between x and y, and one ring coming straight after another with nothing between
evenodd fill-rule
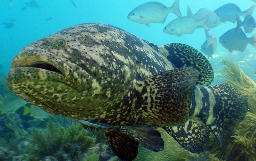
<instances>
[{"instance_id":1,"label":"rounded dark spotted dorsal fin on the grouper's back","mask_svg":"<svg viewBox=\"0 0 256 161\"><path fill-rule=\"evenodd\" d=\"M163 54L177 68L191 67L199 72L196 86L207 86L213 81L213 69L208 59L196 49L180 43L159 46L158 51Z\"/></svg>"}]
</instances>

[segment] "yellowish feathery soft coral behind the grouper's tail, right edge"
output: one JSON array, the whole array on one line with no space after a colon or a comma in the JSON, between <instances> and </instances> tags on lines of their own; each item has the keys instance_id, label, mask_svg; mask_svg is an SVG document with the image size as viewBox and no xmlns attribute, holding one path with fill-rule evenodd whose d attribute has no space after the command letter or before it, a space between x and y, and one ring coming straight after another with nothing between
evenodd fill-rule
<instances>
[{"instance_id":1,"label":"yellowish feathery soft coral behind the grouper's tail, right edge","mask_svg":"<svg viewBox=\"0 0 256 161\"><path fill-rule=\"evenodd\" d=\"M232 161L256 161L256 85L255 82L239 68L239 64L223 60L226 66L223 75L226 82L236 86L248 100L249 112L230 134L229 140L220 148L213 135L208 150L218 158Z\"/></svg>"}]
</instances>

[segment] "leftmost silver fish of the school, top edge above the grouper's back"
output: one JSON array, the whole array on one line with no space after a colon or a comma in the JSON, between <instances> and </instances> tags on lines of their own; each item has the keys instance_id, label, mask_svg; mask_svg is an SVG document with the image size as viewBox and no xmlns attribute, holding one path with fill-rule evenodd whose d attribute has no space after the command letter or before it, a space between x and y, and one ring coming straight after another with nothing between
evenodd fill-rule
<instances>
[{"instance_id":1,"label":"leftmost silver fish of the school, top edge above the grouper's back","mask_svg":"<svg viewBox=\"0 0 256 161\"><path fill-rule=\"evenodd\" d=\"M133 9L127 18L139 24L149 26L151 23L164 23L168 14L172 12L182 18L180 13L180 0L175 0L171 7L160 2L147 2Z\"/></svg>"}]
</instances>

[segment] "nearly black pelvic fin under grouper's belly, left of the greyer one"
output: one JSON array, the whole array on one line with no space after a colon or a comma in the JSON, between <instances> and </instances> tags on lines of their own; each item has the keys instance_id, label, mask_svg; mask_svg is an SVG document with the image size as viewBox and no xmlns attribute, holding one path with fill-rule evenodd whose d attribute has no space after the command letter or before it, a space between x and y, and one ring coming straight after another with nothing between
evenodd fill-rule
<instances>
[{"instance_id":1,"label":"nearly black pelvic fin under grouper's belly, left of the greyer one","mask_svg":"<svg viewBox=\"0 0 256 161\"><path fill-rule=\"evenodd\" d=\"M139 143L120 130L104 129L110 148L122 161L132 161L138 154Z\"/></svg>"}]
</instances>

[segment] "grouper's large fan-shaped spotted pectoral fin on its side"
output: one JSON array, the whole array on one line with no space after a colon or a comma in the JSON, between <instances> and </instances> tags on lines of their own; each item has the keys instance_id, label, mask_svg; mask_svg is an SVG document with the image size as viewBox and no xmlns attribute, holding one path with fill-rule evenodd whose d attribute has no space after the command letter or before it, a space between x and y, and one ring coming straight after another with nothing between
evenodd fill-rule
<instances>
[{"instance_id":1,"label":"grouper's large fan-shaped spotted pectoral fin on its side","mask_svg":"<svg viewBox=\"0 0 256 161\"><path fill-rule=\"evenodd\" d=\"M134 86L135 110L152 124L184 124L188 120L192 85L197 78L195 68L178 68L149 77Z\"/></svg>"}]
</instances>

